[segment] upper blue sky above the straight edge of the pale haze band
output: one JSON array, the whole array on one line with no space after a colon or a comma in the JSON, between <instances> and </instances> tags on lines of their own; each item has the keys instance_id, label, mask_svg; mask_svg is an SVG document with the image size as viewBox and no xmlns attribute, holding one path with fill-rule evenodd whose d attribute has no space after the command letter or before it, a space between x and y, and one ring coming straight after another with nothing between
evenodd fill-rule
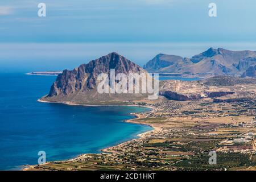
<instances>
[{"instance_id":1,"label":"upper blue sky above the straight edge of the pale haze band","mask_svg":"<svg viewBox=\"0 0 256 182\"><path fill-rule=\"evenodd\" d=\"M255 41L255 9L255 0L1 0L0 42Z\"/></svg>"}]
</instances>

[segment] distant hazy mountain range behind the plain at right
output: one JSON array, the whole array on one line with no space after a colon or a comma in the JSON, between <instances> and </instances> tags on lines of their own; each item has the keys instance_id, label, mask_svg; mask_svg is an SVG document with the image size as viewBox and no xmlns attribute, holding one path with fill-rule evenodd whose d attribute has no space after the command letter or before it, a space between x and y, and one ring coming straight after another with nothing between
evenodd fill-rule
<instances>
[{"instance_id":1,"label":"distant hazy mountain range behind the plain at right","mask_svg":"<svg viewBox=\"0 0 256 182\"><path fill-rule=\"evenodd\" d=\"M144 65L148 72L181 73L209 77L216 75L255 77L256 51L209 48L199 55L180 57L160 53Z\"/></svg>"}]
</instances>

